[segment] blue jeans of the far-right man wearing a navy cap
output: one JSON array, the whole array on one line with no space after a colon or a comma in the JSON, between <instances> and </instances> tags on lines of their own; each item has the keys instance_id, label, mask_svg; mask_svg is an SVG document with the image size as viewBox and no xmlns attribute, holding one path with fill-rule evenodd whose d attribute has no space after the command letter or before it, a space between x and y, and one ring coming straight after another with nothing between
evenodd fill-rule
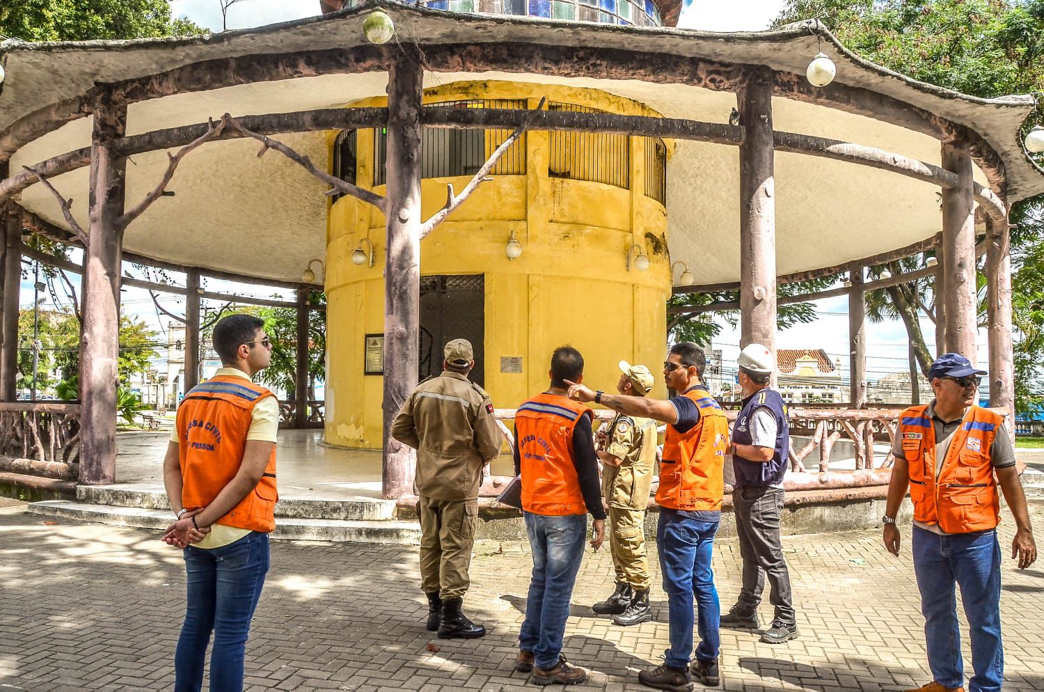
<instances>
[{"instance_id":1,"label":"blue jeans of the far-right man wearing a navy cap","mask_svg":"<svg viewBox=\"0 0 1044 692\"><path fill-rule=\"evenodd\" d=\"M1000 545L997 531L939 535L914 527L914 571L921 590L921 613L932 677L945 687L964 686L960 628L953 586L971 629L969 692L999 692L1004 679L1000 643Z\"/></svg>"}]
</instances>

